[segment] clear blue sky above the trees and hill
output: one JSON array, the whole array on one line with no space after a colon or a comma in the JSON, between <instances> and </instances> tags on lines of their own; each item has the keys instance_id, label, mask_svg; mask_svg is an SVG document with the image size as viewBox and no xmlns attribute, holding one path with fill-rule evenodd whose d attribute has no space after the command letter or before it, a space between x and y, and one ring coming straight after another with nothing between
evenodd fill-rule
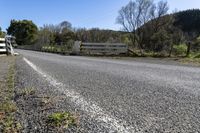
<instances>
[{"instance_id":1,"label":"clear blue sky above the trees and hill","mask_svg":"<svg viewBox=\"0 0 200 133\"><path fill-rule=\"evenodd\" d=\"M74 27L99 27L119 30L115 23L118 10L130 0L0 0L0 27L5 30L11 19L33 20L38 26L64 20ZM156 0L157 1L157 0ZM200 0L167 0L170 11L200 8Z\"/></svg>"}]
</instances>

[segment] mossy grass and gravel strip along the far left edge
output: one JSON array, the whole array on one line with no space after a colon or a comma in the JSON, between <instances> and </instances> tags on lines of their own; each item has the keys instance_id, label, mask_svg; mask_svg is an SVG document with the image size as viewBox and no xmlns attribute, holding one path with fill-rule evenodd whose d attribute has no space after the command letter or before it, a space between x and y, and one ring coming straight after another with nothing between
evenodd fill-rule
<instances>
[{"instance_id":1,"label":"mossy grass and gravel strip along the far left edge","mask_svg":"<svg viewBox=\"0 0 200 133\"><path fill-rule=\"evenodd\" d=\"M8 59L10 61L4 62L8 69L3 69L7 71L6 80L1 81L0 85L0 132L16 133L21 130L21 124L15 119L17 111L17 106L14 102L15 59L14 57L8 57Z\"/></svg>"}]
</instances>

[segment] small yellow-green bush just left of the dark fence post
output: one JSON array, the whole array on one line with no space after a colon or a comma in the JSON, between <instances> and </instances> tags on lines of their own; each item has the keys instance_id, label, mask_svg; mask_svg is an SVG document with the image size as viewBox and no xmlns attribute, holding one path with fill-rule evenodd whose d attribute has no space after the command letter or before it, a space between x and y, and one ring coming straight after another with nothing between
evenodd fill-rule
<instances>
[{"instance_id":1,"label":"small yellow-green bush just left of the dark fence post","mask_svg":"<svg viewBox=\"0 0 200 133\"><path fill-rule=\"evenodd\" d=\"M173 49L175 55L182 56L187 52L187 45L186 44L174 45Z\"/></svg>"}]
</instances>

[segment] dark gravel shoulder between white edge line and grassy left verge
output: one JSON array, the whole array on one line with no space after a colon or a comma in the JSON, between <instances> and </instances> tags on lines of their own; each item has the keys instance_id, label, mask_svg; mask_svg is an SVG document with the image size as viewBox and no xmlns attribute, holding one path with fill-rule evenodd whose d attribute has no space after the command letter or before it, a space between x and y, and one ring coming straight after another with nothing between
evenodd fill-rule
<instances>
[{"instance_id":1,"label":"dark gravel shoulder between white edge line and grassy left verge","mask_svg":"<svg viewBox=\"0 0 200 133\"><path fill-rule=\"evenodd\" d=\"M22 122L23 133L92 133L108 132L94 119L76 108L65 94L52 87L22 59L17 59L16 91L31 89L32 94L17 95L15 101L19 108L17 118ZM65 128L49 127L47 118L56 112L70 112L76 118L76 125Z\"/></svg>"}]
</instances>

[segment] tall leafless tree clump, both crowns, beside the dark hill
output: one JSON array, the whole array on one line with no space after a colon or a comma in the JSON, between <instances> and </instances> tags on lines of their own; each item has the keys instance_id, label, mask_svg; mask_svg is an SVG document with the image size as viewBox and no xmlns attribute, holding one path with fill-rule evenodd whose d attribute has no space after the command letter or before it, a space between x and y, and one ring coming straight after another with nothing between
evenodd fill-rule
<instances>
[{"instance_id":1,"label":"tall leafless tree clump, both crowns, beside the dark hill","mask_svg":"<svg viewBox=\"0 0 200 133\"><path fill-rule=\"evenodd\" d=\"M141 40L143 33L141 31L149 21L156 20L164 16L169 10L166 1L160 1L155 4L153 0L134 0L122 7L117 17L117 23L123 26L123 29L130 33L130 38L134 46L138 46L142 53ZM159 23L152 21L157 29Z\"/></svg>"}]
</instances>

